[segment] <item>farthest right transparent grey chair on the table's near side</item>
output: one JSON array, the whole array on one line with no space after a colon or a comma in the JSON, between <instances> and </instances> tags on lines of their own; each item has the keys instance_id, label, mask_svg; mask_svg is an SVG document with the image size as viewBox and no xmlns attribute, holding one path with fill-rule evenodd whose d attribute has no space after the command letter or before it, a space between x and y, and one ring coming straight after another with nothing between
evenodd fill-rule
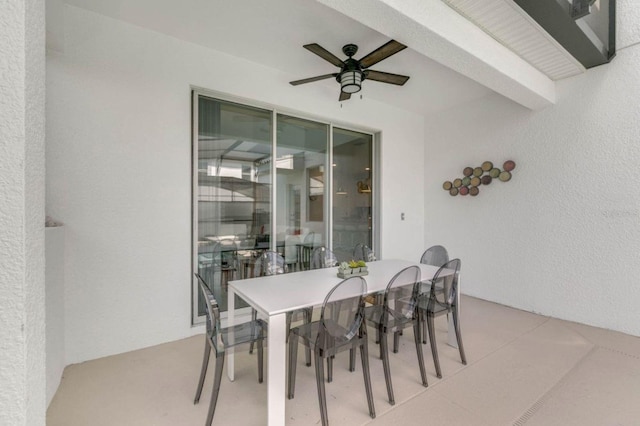
<instances>
[{"instance_id":1,"label":"farthest right transparent grey chair on the table's near side","mask_svg":"<svg viewBox=\"0 0 640 426\"><path fill-rule=\"evenodd\" d=\"M454 271L453 275L449 274L450 271ZM433 276L429 293L421 295L418 303L420 315L424 316L427 320L431 353L433 354L433 363L438 378L442 378L442 371L440 369L440 359L438 358L434 320L439 316L447 314L453 316L453 325L456 332L456 340L458 341L460 359L464 365L467 364L467 357L464 354L464 346L462 345L462 334L460 332L460 312L458 310L459 276L460 259L453 259L445 263ZM437 288L437 283L441 279L444 280L444 290Z\"/></svg>"}]
</instances>

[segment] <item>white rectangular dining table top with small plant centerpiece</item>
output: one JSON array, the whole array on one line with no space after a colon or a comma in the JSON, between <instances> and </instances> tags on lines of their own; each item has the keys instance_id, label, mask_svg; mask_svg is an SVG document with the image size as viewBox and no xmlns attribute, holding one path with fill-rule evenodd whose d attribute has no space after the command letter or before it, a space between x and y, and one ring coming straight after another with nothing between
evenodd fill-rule
<instances>
[{"instance_id":1,"label":"white rectangular dining table top with small plant centerpiece","mask_svg":"<svg viewBox=\"0 0 640 426\"><path fill-rule=\"evenodd\" d=\"M408 260L369 262L367 263L369 274L364 276L367 281L367 292L375 293L385 290L396 273L413 265L420 267L422 280L432 278L439 269L437 266ZM322 305L329 290L342 281L337 273L338 268L312 269L229 281L229 287L258 311L270 316Z\"/></svg>"}]
</instances>

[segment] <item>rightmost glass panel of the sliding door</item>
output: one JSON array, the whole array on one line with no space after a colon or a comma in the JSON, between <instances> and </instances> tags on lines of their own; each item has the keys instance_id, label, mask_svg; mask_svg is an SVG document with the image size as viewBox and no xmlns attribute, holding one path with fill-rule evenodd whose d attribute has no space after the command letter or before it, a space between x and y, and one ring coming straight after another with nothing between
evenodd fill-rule
<instances>
[{"instance_id":1,"label":"rightmost glass panel of the sliding door","mask_svg":"<svg viewBox=\"0 0 640 426\"><path fill-rule=\"evenodd\" d=\"M373 136L333 129L333 251L353 257L356 244L372 246Z\"/></svg>"}]
</instances>

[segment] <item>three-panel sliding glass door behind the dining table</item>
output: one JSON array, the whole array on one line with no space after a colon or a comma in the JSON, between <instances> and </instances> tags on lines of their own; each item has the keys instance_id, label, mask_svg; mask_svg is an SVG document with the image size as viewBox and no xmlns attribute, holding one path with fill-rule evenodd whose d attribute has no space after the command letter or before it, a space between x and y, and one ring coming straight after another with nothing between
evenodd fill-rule
<instances>
[{"instance_id":1,"label":"three-panel sliding glass door behind the dining table","mask_svg":"<svg viewBox=\"0 0 640 426\"><path fill-rule=\"evenodd\" d=\"M293 272L319 246L340 260L374 248L371 134L194 91L193 135L193 270L222 312L266 250ZM203 314L194 279L194 323Z\"/></svg>"}]
</instances>

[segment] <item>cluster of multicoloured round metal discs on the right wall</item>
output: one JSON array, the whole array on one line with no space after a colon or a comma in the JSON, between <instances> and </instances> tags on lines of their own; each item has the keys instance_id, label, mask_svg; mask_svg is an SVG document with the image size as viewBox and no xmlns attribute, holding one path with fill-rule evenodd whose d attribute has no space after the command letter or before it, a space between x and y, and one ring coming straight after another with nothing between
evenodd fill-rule
<instances>
[{"instance_id":1,"label":"cluster of multicoloured round metal discs on the right wall","mask_svg":"<svg viewBox=\"0 0 640 426\"><path fill-rule=\"evenodd\" d=\"M493 167L491 161L485 161L480 167L465 167L462 170L462 177L445 181L442 189L448 191L452 197L456 195L471 195L475 197L480 193L481 185L490 185L494 179L500 182L509 182L511 172L516 168L513 160L507 160L502 165L502 170Z\"/></svg>"}]
</instances>

